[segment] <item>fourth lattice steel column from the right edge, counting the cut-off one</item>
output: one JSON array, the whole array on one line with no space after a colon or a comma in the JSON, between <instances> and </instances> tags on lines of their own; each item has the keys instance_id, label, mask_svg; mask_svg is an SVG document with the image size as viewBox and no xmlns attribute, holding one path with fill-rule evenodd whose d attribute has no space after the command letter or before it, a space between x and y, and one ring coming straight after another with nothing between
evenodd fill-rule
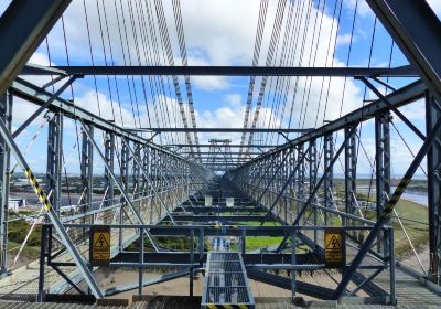
<instances>
[{"instance_id":1,"label":"fourth lattice steel column from the right edge, counting the cut-off one","mask_svg":"<svg viewBox=\"0 0 441 309\"><path fill-rule=\"evenodd\" d=\"M324 167L323 169L326 170L332 161L332 158L334 158L334 138L332 136L332 134L327 134L323 137L324 139L324 159L323 159L323 163ZM324 181L324 206L326 209L333 209L334 207L334 196L333 196L333 192L334 192L334 168L331 167L330 173L327 174L325 181ZM327 220L329 220L329 213L325 212L324 213L324 222L325 225L327 225Z\"/></svg>"}]
</instances>

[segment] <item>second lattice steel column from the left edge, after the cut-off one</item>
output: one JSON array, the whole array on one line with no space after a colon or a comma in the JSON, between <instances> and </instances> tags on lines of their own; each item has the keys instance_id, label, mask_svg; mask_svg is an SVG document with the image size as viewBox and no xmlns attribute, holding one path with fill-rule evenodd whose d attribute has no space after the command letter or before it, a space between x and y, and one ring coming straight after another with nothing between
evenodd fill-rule
<instances>
[{"instance_id":1,"label":"second lattice steel column from the left edge, after the cut-off one","mask_svg":"<svg viewBox=\"0 0 441 309\"><path fill-rule=\"evenodd\" d=\"M60 214L63 168L63 115L57 111L49 121L46 182L49 198L55 212Z\"/></svg>"}]
</instances>

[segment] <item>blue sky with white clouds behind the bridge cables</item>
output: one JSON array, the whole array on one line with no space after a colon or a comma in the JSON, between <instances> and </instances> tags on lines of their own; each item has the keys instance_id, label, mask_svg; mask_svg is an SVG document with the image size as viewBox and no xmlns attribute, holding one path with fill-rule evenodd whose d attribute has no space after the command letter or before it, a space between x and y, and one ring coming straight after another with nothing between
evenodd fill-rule
<instances>
[{"instance_id":1,"label":"blue sky with white clouds behind the bridge cables","mask_svg":"<svg viewBox=\"0 0 441 309\"><path fill-rule=\"evenodd\" d=\"M337 1L337 6L335 6L335 1ZM85 2L87 2L86 7L84 7ZM85 2L83 0L73 1L64 14L64 26L62 22L55 25L47 36L47 40L43 42L30 62L47 65L50 63L50 56L52 64L65 65L67 64L65 51L67 47L67 54L72 65L92 65L92 57L96 65L104 65L106 63L108 65L138 65L139 63L142 65L151 65L158 63L158 60L154 60L153 50L149 50L140 43L142 39L147 41L147 38L153 38L148 36L147 28L142 26L142 22L147 22L147 15L137 14L137 11L143 10L146 12L148 10L153 10L154 4L150 3L150 8L147 4L144 4L144 7L136 7L138 4L135 4L135 1L109 0L105 1L106 9L104 9L101 7L101 1L96 2L95 0L90 0ZM120 4L120 2L122 4ZM181 65L182 60L171 2L172 1L163 1L164 15L174 55L174 64ZM366 66L369 62L372 38L374 38L370 65L388 66L391 39L379 22L376 23L375 35L373 36L375 17L364 0L343 1L344 3L341 11L338 0L327 0L325 2L326 6L323 8L323 0L286 1L281 32L279 34L280 38L271 65ZM439 1L432 0L430 2L437 13L441 12L441 4ZM2 2L3 7L4 3L6 2ZM0 10L2 6L0 6ZM189 65L251 65L259 6L260 1L256 0L181 1ZM300 10L299 6L301 6ZM308 8L310 8L309 19L306 19ZM277 24L275 23L276 10L277 1L269 1L265 20L266 26L262 34L262 46L258 61L259 65L265 65L268 60L271 31ZM290 10L292 12L292 28L289 32L290 36L287 36L290 39L286 45L292 46L292 54L289 60L288 57L283 58L281 50L284 34L288 31L287 23ZM302 14L299 14L301 18L295 15L298 11L302 11ZM85 12L87 14L88 24L86 23ZM356 18L355 24L353 25L355 12ZM132 19L130 19L131 13L133 14ZM122 21L118 18L121 18L122 14L126 14L127 24L125 29L127 32L122 31L121 34ZM154 15L151 18L155 19ZM320 31L318 30L319 24L322 25ZM336 31L336 29L338 30ZM158 30L155 31L157 43L161 44L159 32ZM125 34L128 38L127 40L125 39ZM93 38L90 40L92 45L89 44L88 35ZM66 41L64 41L64 36ZM320 36L320 41L315 43L316 40L314 41L312 39L318 36ZM136 38L138 42L135 42ZM295 38L295 40L293 38ZM293 43L290 43L291 41ZM302 41L304 42L303 47ZM335 55L332 57L334 47ZM351 54L348 53L349 49ZM286 55L287 54L288 52ZM164 53L160 52L159 56L159 62L161 64L169 64ZM402 56L398 47L395 46L390 65L400 66L405 64L407 64L407 60ZM37 84L45 82L44 78L41 77L30 77L30 79ZM389 82L394 86L399 87L411 81L407 78L394 78ZM106 77L98 77L96 78L96 83L97 92L93 77L87 77L75 83L74 96L77 106L87 108L97 115L100 113L101 117L106 119L115 118L117 124L121 124L122 121L127 127L148 127L150 124L153 127L182 126L176 96L170 77L164 77L162 81L159 78L146 78L146 95L143 94L142 81L139 77L133 81L126 77L110 77L109 79ZM260 83L261 78L256 78L250 119L252 119L255 113ZM279 85L287 83L290 87L288 87L289 89L287 92L282 92L280 88L277 90L277 83L279 83ZM323 120L335 119L341 113L344 115L363 106L365 89L363 85L351 78L346 81L343 78L333 78L331 82L329 78L299 78L297 93L294 92L295 83L295 78L272 77L268 79L262 99L262 109L260 110L259 120L257 122L258 127L288 127L289 125L292 128L318 127L323 124ZM191 85L196 110L196 124L198 127L243 126L249 77L191 77ZM157 86L159 89L163 89L163 92L157 90ZM182 77L180 77L180 86L184 103L186 103L185 85ZM343 88L345 88L344 98L342 98ZM383 88L381 92L384 92ZM327 104L325 94L327 94ZM119 100L117 99L117 95L119 96ZM282 111L282 98L284 95L287 99L284 110ZM66 92L65 97L71 98L69 92ZM375 98L375 95L367 92L366 98ZM14 105L14 126L17 127L22 122L33 109L34 107L32 105L17 100ZM187 111L186 105L185 109ZM324 114L325 109L326 113ZM402 109L405 115L423 130L423 103L417 103ZM115 110L115 113L112 110ZM121 113L119 113L120 110ZM136 117L133 117L132 110L135 110ZM316 117L318 110L319 117ZM158 117L155 115L158 115ZM39 121L41 121L41 119L37 119L35 124L30 126L29 129L23 132L22 137L19 138L20 146L23 149L28 146L30 138L39 129ZM395 119L394 122L397 128L402 131L407 142L416 152L421 142L413 134L406 129L398 119ZM45 170L45 131L46 127L42 130L37 140L31 148L30 154L26 157L34 167L34 170L37 171ZM65 153L68 153L75 145L75 124L73 121L66 121ZM374 153L372 122L363 125L362 136L365 149L368 152L369 159L372 159ZM98 135L96 137L98 139L101 138ZM225 137L227 136L200 135L200 141L206 142L209 138ZM240 140L240 135L228 137L233 138L234 142ZM294 135L290 136L290 138L294 137ZM161 138L161 140L157 138L155 142L185 142L184 135L180 135L178 138L165 135ZM337 137L337 140L338 139L341 140L342 136ZM260 140L271 141L273 143L278 141L282 142L282 139L277 136L262 137L256 135L255 142L259 142ZM392 152L395 154L392 172L399 175L409 164L411 154L405 149L402 141L394 130ZM78 156L72 156L67 164L67 169L72 172L78 170L77 157ZM368 173L370 168L367 158L366 156L362 157L359 159L358 170L361 173ZM100 168L99 160L97 160L97 169Z\"/></svg>"}]
</instances>

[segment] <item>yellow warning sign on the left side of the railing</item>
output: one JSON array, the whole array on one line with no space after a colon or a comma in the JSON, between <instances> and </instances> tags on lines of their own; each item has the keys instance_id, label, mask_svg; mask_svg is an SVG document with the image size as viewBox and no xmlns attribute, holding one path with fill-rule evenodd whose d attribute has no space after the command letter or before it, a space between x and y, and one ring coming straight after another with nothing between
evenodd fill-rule
<instances>
[{"instance_id":1,"label":"yellow warning sign on the left side of the railing","mask_svg":"<svg viewBox=\"0 0 441 309\"><path fill-rule=\"evenodd\" d=\"M90 259L93 266L107 266L110 263L110 226L97 225L92 230Z\"/></svg>"}]
</instances>

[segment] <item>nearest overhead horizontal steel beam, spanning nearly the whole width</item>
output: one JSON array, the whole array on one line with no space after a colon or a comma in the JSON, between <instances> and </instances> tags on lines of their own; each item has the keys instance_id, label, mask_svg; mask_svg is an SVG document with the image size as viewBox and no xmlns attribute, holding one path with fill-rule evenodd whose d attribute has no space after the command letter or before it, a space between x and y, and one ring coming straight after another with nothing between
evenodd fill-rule
<instances>
[{"instance_id":1,"label":"nearest overhead horizontal steel beam, spanning nearly the whole width","mask_svg":"<svg viewBox=\"0 0 441 309\"><path fill-rule=\"evenodd\" d=\"M287 67L287 66L54 66L68 75L200 75L200 76L418 76L399 67ZM28 65L21 75L47 75L45 66Z\"/></svg>"}]
</instances>

